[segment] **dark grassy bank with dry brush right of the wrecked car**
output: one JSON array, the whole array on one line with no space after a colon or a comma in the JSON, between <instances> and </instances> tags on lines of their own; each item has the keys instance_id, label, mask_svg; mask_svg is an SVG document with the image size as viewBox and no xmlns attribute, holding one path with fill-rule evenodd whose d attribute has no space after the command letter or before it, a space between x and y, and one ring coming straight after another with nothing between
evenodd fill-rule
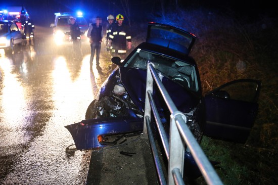
<instances>
[{"instance_id":1,"label":"dark grassy bank with dry brush right of the wrecked car","mask_svg":"<svg viewBox=\"0 0 278 185\"><path fill-rule=\"evenodd\" d=\"M152 20L197 35L191 56L198 64L204 95L235 79L261 80L259 112L248 141L235 144L204 137L202 148L210 160L221 162L216 170L224 184L277 184L277 20L237 20L230 15L199 9ZM198 182L205 184L203 179Z\"/></svg>"}]
</instances>

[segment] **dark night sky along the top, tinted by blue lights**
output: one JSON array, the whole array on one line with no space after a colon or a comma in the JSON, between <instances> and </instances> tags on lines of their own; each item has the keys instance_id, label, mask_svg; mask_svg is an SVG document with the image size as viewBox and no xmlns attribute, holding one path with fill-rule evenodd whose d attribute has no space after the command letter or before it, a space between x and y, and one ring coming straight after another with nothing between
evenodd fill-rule
<instances>
[{"instance_id":1,"label":"dark night sky along the top, tinted by blue lights","mask_svg":"<svg viewBox=\"0 0 278 185\"><path fill-rule=\"evenodd\" d=\"M130 6L130 15L133 19L141 19L141 16L146 15L147 13L155 13L161 11L160 2L162 0L153 0L153 1L131 1L129 0ZM7 2L7 3L6 3ZM107 15L113 14L123 14L124 11L122 9L122 4L120 0L26 0L26 1L2 1L0 3L0 9L5 9L8 6L24 6L30 18L34 20L36 24L39 25L48 25L54 21L54 13L55 12L76 12L81 10L84 12L84 17L87 19L101 16L106 18ZM123 2L123 1L122 1ZM170 5L174 4L174 0L164 0L165 7L170 7ZM233 10L236 13L248 15L248 16L256 16L259 14L268 13L271 16L275 16L274 6L270 2L270 0L255 2L251 0L179 0L180 6L183 8L196 7L196 8L207 8L218 11L227 11ZM171 11L171 8L168 10Z\"/></svg>"}]
</instances>

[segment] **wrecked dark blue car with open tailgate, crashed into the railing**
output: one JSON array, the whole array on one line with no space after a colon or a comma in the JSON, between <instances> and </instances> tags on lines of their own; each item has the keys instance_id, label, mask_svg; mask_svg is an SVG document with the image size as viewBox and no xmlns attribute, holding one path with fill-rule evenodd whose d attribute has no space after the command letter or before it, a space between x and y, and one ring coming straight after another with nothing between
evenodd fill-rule
<instances>
[{"instance_id":1,"label":"wrecked dark blue car with open tailgate, crashed into the railing","mask_svg":"<svg viewBox=\"0 0 278 185\"><path fill-rule=\"evenodd\" d=\"M143 131L146 69L149 62L154 64L177 109L186 115L187 125L199 143L204 133L229 141L244 142L258 109L260 81L236 80L203 97L197 64L189 56L195 39L195 35L176 27L149 23L146 42L138 45L123 62L118 57L112 58L118 67L88 106L85 119L65 126L72 134L76 149L117 145L117 142L111 141L111 136ZM241 86L233 88L235 84ZM169 131L170 112L156 85L153 97L162 124ZM152 129L156 135L156 124L152 120ZM200 175L191 153L186 152L184 157L185 166L192 169L186 175Z\"/></svg>"}]
</instances>

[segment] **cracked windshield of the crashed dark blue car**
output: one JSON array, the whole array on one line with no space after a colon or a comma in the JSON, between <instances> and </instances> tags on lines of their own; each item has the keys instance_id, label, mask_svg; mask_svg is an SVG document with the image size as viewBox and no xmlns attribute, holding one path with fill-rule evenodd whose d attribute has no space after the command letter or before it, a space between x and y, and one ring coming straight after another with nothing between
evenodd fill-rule
<instances>
[{"instance_id":1,"label":"cracked windshield of the crashed dark blue car","mask_svg":"<svg viewBox=\"0 0 278 185\"><path fill-rule=\"evenodd\" d=\"M124 67L147 69L148 62L154 64L159 76L169 78L192 91L199 90L195 67L184 61L138 49Z\"/></svg>"}]
</instances>

